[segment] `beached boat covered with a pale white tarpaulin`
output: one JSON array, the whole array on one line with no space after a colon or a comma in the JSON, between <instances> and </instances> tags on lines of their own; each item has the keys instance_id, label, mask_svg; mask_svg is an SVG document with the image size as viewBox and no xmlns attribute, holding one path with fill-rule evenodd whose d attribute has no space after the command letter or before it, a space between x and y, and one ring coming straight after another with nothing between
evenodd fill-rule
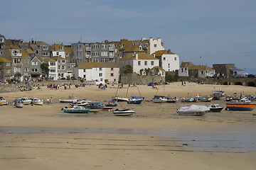
<instances>
[{"instance_id":1,"label":"beached boat covered with a pale white tarpaulin","mask_svg":"<svg viewBox=\"0 0 256 170\"><path fill-rule=\"evenodd\" d=\"M197 105L191 105L191 106L183 106L177 110L178 115L204 115L208 111L210 111L210 108L207 106L197 106Z\"/></svg>"}]
</instances>

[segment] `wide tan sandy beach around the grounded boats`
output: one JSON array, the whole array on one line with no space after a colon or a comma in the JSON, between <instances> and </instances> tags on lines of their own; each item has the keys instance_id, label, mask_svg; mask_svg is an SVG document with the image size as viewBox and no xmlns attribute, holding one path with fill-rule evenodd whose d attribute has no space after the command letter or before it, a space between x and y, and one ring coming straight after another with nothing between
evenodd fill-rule
<instances>
[{"instance_id":1,"label":"wide tan sandy beach around the grounded boats","mask_svg":"<svg viewBox=\"0 0 256 170\"><path fill-rule=\"evenodd\" d=\"M151 102L154 95L210 96L219 89L231 96L256 92L249 86L181 86L177 82L158 89L43 86L42 90L1 93L9 103L18 96L53 98L53 103L43 106L0 106L1 169L256 169L255 110L178 116L177 108L191 103ZM63 113L61 108L68 104L58 101L76 96L107 102L116 94L145 99L140 105L118 103L119 109L136 111L130 117L116 117L112 111ZM226 101L211 103L225 106Z\"/></svg>"}]
</instances>

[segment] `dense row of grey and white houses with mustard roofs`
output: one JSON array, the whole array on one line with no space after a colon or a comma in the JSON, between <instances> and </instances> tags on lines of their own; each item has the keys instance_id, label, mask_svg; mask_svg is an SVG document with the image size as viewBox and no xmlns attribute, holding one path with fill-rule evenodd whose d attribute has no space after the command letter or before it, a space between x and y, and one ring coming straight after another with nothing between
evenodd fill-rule
<instances>
[{"instance_id":1,"label":"dense row of grey and white houses with mustard roofs","mask_svg":"<svg viewBox=\"0 0 256 170\"><path fill-rule=\"evenodd\" d=\"M126 65L137 74L156 74L179 68L179 57L164 49L161 38L109 42L78 42L71 45L9 40L0 35L0 81L82 78L99 83L118 82Z\"/></svg>"}]
</instances>

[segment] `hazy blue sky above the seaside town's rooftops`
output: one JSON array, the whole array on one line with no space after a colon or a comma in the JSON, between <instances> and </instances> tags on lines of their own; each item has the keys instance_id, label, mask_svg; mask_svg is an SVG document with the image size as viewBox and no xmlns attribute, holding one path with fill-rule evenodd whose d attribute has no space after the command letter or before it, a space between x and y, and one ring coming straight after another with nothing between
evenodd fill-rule
<instances>
[{"instance_id":1,"label":"hazy blue sky above the seaside town's rooftops","mask_svg":"<svg viewBox=\"0 0 256 170\"><path fill-rule=\"evenodd\" d=\"M255 0L2 0L0 34L52 45L161 38L180 62L256 74Z\"/></svg>"}]
</instances>

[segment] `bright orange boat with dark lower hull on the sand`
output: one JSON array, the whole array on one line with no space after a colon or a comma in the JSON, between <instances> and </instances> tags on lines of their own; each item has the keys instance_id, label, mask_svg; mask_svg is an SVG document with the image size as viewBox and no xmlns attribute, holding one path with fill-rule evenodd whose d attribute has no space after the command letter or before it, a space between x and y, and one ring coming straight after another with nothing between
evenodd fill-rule
<instances>
[{"instance_id":1,"label":"bright orange boat with dark lower hull on the sand","mask_svg":"<svg viewBox=\"0 0 256 170\"><path fill-rule=\"evenodd\" d=\"M250 103L226 103L226 111L252 111L255 104Z\"/></svg>"}]
</instances>

